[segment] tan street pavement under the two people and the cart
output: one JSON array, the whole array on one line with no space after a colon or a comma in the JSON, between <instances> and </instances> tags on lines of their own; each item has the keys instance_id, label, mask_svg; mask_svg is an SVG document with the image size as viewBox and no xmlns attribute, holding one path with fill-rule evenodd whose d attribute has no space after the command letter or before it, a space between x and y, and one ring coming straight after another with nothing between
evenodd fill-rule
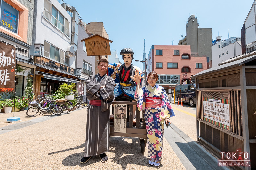
<instances>
[{"instance_id":1,"label":"tan street pavement under the two people and the cart","mask_svg":"<svg viewBox=\"0 0 256 170\"><path fill-rule=\"evenodd\" d=\"M196 110L172 104L175 116L164 129L163 156L157 169L224 169L196 141ZM10 115L10 116L9 116ZM148 164L147 147L140 152L139 138L110 137L108 162L98 156L81 164L84 155L86 108L61 115L28 117L4 123L0 115L0 169L156 169Z\"/></svg>"}]
</instances>

